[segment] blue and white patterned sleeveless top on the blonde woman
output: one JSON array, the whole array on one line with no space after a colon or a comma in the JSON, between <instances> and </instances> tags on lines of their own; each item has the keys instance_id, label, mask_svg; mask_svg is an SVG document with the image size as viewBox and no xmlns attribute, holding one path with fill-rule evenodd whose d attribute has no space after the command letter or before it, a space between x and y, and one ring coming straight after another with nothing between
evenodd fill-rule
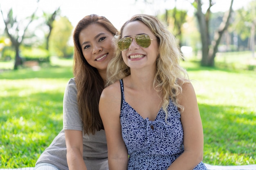
<instances>
[{"instance_id":1,"label":"blue and white patterned sleeveless top on the blonde woman","mask_svg":"<svg viewBox=\"0 0 256 170\"><path fill-rule=\"evenodd\" d=\"M180 112L170 99L168 117L161 108L154 121L144 119L125 100L121 84L121 130L129 154L128 170L166 170L184 152ZM199 163L194 170L207 170Z\"/></svg>"}]
</instances>

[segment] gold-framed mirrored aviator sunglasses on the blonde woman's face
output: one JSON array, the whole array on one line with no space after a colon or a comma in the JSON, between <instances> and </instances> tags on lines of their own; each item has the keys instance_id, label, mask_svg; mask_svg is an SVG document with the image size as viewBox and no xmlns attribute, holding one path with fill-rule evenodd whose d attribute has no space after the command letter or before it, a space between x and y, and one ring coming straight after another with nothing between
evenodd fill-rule
<instances>
[{"instance_id":1,"label":"gold-framed mirrored aviator sunglasses on the blonde woman's face","mask_svg":"<svg viewBox=\"0 0 256 170\"><path fill-rule=\"evenodd\" d=\"M117 42L117 46L121 51L126 51L127 49L129 49L130 44L132 43L132 38L135 39L135 42L143 47L143 48L148 48L150 46L151 43L151 39L149 35L146 34L141 34L141 35L135 35L135 36L130 36L130 37L125 37L125 38L121 38L118 42Z\"/></svg>"}]
</instances>

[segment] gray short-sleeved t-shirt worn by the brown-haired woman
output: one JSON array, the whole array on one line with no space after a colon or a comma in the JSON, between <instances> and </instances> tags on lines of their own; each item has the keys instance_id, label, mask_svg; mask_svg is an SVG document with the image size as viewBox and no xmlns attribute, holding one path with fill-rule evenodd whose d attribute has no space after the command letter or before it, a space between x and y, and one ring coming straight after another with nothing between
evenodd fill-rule
<instances>
[{"instance_id":1,"label":"gray short-sleeved t-shirt worn by the brown-haired woman","mask_svg":"<svg viewBox=\"0 0 256 170\"><path fill-rule=\"evenodd\" d=\"M72 78L67 83L64 93L63 130L40 155L36 165L38 163L49 163L61 170L68 170L64 130L83 130L76 95L76 84L74 78ZM83 160L88 170L108 170L108 150L104 130L97 131L94 135L83 135Z\"/></svg>"}]
</instances>

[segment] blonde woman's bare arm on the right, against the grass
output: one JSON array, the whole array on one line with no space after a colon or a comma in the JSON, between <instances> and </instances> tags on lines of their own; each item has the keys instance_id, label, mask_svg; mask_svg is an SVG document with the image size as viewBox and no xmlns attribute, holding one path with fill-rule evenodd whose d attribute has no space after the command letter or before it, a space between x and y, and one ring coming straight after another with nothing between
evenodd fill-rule
<instances>
[{"instance_id":1,"label":"blonde woman's bare arm on the right, against the grass","mask_svg":"<svg viewBox=\"0 0 256 170\"><path fill-rule=\"evenodd\" d=\"M168 170L192 170L203 159L204 137L198 103L191 83L183 84L182 94L177 99L179 104L184 106L184 111L181 113L184 152Z\"/></svg>"}]
</instances>

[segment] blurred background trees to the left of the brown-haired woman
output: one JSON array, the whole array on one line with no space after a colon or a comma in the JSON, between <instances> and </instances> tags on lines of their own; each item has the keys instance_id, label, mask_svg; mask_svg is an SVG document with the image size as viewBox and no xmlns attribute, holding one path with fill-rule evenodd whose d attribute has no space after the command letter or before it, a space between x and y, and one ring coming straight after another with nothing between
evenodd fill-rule
<instances>
[{"instance_id":1,"label":"blurred background trees to the left of the brown-haired woman","mask_svg":"<svg viewBox=\"0 0 256 170\"><path fill-rule=\"evenodd\" d=\"M39 0L36 1L37 4ZM17 19L13 8L3 11L4 34L0 38L0 60L14 59L14 70L23 62L49 62L50 56L72 57L70 43L73 26L61 16L60 7L52 13L31 10L31 15ZM40 13L41 15L38 15ZM43 35L43 36L42 36Z\"/></svg>"}]
</instances>

